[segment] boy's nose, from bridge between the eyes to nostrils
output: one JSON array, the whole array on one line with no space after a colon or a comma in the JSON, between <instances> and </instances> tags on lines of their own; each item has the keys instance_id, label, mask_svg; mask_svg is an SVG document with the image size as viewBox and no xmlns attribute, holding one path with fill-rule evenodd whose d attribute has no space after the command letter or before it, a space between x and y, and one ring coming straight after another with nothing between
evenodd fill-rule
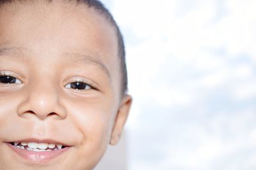
<instances>
[{"instance_id":1,"label":"boy's nose, from bridge between the eyes to nostrils","mask_svg":"<svg viewBox=\"0 0 256 170\"><path fill-rule=\"evenodd\" d=\"M53 83L33 83L27 89L24 101L17 108L20 117L36 116L40 120L67 117L67 111L60 103L58 88Z\"/></svg>"}]
</instances>

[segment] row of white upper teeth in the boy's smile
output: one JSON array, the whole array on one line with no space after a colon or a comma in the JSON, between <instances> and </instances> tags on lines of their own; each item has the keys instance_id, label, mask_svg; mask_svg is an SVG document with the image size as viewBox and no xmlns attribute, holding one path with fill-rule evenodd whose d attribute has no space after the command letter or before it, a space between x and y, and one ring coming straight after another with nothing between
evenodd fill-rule
<instances>
[{"instance_id":1,"label":"row of white upper teeth in the boy's smile","mask_svg":"<svg viewBox=\"0 0 256 170\"><path fill-rule=\"evenodd\" d=\"M14 143L15 146L19 147L19 148L26 148L27 150L35 150L37 151L36 149L40 149L40 150L46 150L47 148L49 150L51 149L54 149L54 150L57 150L57 149L61 149L62 148L62 145L60 144L54 144L54 143L36 143L36 142L15 142Z\"/></svg>"}]
</instances>

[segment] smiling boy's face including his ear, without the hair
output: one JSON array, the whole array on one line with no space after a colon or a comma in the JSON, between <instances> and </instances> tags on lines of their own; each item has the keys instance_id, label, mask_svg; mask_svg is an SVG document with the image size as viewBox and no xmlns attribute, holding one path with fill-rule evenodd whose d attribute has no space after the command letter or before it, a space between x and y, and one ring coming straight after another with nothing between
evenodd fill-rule
<instances>
[{"instance_id":1,"label":"smiling boy's face including his ear, without the hair","mask_svg":"<svg viewBox=\"0 0 256 170\"><path fill-rule=\"evenodd\" d=\"M86 5L2 6L1 169L92 169L129 112L120 70L115 29Z\"/></svg>"}]
</instances>

